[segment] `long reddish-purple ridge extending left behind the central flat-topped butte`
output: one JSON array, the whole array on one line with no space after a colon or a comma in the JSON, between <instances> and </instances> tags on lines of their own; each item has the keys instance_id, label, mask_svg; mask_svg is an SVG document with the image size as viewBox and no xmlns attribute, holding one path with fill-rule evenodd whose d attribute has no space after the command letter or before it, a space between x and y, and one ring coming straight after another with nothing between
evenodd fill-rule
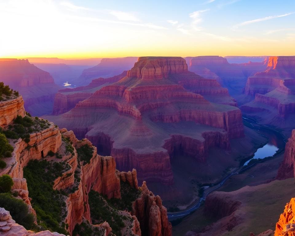
<instances>
[{"instance_id":1,"label":"long reddish-purple ridge extending left behind the central flat-topped butte","mask_svg":"<svg viewBox=\"0 0 295 236\"><path fill-rule=\"evenodd\" d=\"M85 100L86 98L89 98L96 90L117 82L126 75L127 71L124 71L120 75L116 75L111 78L94 79L87 86L77 87L74 89L58 90L57 94L54 97L52 114L59 115L68 112L70 109L74 108L77 103Z\"/></svg>"}]
</instances>

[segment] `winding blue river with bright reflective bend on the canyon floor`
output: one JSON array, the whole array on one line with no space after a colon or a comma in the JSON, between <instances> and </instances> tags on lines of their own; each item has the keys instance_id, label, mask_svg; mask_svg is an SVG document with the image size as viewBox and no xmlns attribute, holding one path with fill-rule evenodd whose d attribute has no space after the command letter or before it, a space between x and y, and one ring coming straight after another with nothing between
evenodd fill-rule
<instances>
[{"instance_id":1,"label":"winding blue river with bright reflective bend on the canyon floor","mask_svg":"<svg viewBox=\"0 0 295 236\"><path fill-rule=\"evenodd\" d=\"M249 127L255 131L257 131L260 135L267 137L268 138L268 143L265 144L263 147L258 148L257 151L254 153L250 159L245 160L244 163L241 163L241 167L233 171L232 173L228 174L226 177L224 177L219 183L214 184L213 186L210 186L210 191L204 191L203 196L199 199L198 202L196 202L193 206L191 206L187 210L179 211L179 212L173 212L170 213L168 212L168 219L169 221L176 220L178 218L182 218L191 212L195 211L201 206L201 203L205 201L206 196L210 194L211 192L217 190L220 188L227 179L229 179L233 175L238 175L239 171L241 169L247 169L255 165L255 163L248 165L247 164L250 162L252 159L264 159L266 157L271 157L274 156L278 150L283 150L285 148L286 141L284 139L284 136L280 133L277 132L276 130L273 130L271 128L261 126L257 124L254 120L248 119L246 117L243 117L243 123L246 127ZM246 167L247 166L247 167ZM245 168L246 167L246 168ZM208 186L207 186L208 187ZM209 189L209 188L208 188Z\"/></svg>"}]
</instances>

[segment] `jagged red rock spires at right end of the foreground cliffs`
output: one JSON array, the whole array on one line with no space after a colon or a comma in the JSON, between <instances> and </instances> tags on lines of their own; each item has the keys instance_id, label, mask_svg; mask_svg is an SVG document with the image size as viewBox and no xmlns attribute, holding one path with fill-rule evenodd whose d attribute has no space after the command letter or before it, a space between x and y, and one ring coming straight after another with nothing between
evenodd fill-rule
<instances>
[{"instance_id":1,"label":"jagged red rock spires at right end of the foreground cliffs","mask_svg":"<svg viewBox=\"0 0 295 236\"><path fill-rule=\"evenodd\" d=\"M140 187L141 195L132 205L132 214L140 222L142 236L170 236L172 226L168 222L167 209L159 196L148 190L146 182Z\"/></svg>"}]
</instances>

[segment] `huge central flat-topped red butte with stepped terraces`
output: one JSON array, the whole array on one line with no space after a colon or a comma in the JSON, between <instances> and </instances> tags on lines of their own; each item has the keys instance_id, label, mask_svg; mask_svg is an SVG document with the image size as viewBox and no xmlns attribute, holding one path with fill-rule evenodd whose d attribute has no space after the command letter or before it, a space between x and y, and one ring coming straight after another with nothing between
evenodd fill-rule
<instances>
[{"instance_id":1,"label":"huge central flat-topped red butte with stepped terraces","mask_svg":"<svg viewBox=\"0 0 295 236\"><path fill-rule=\"evenodd\" d=\"M140 182L171 184L175 152L204 162L210 147L229 150L229 139L244 134L238 108L198 93L205 83L181 57L140 57L120 81L46 118L87 137L100 154L115 158L120 171L136 168Z\"/></svg>"}]
</instances>

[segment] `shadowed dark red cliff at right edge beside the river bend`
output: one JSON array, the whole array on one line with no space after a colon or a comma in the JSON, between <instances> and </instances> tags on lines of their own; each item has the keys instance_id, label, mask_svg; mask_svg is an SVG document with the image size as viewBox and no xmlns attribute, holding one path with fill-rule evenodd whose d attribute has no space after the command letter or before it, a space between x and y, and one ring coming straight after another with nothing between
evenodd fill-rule
<instances>
[{"instance_id":1,"label":"shadowed dark red cliff at right edge beside the river bend","mask_svg":"<svg viewBox=\"0 0 295 236\"><path fill-rule=\"evenodd\" d=\"M288 179L295 175L295 130L293 129L291 137L288 139L285 147L284 160L277 171L276 179Z\"/></svg>"}]
</instances>

